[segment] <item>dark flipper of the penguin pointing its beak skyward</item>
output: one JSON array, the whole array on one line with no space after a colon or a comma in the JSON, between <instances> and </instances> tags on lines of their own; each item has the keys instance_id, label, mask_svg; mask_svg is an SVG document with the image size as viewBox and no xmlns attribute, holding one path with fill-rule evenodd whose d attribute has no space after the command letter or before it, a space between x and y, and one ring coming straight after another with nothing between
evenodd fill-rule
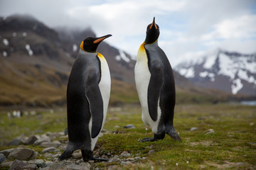
<instances>
[{"instance_id":1,"label":"dark flipper of the penguin pointing its beak skyward","mask_svg":"<svg viewBox=\"0 0 256 170\"><path fill-rule=\"evenodd\" d=\"M161 91L161 86L164 82L163 79L163 69L160 64L152 64L149 67L151 72L151 77L149 80L148 87L148 106L149 106L149 115L152 120L157 120L157 108L159 104L159 96Z\"/></svg>"}]
</instances>

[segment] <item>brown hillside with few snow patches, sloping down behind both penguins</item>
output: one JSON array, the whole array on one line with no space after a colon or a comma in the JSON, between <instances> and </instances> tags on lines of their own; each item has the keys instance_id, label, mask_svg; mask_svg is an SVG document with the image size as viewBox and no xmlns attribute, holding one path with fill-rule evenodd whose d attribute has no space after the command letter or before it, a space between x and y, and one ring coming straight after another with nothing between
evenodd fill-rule
<instances>
[{"instance_id":1,"label":"brown hillside with few snow patches, sloping down behind both penguins","mask_svg":"<svg viewBox=\"0 0 256 170\"><path fill-rule=\"evenodd\" d=\"M32 16L0 18L0 106L64 106L80 42L92 29L48 28ZM100 35L99 35L100 36ZM110 104L138 103L135 57L106 42L98 47L110 67ZM198 88L174 72L177 103L225 101L225 93Z\"/></svg>"}]
</instances>

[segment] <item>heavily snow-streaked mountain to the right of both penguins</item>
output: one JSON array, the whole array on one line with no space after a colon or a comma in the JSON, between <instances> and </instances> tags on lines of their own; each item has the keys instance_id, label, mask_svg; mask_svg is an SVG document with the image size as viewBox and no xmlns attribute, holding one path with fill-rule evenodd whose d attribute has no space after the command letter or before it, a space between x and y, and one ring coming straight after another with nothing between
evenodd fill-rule
<instances>
[{"instance_id":1,"label":"heavily snow-streaked mountain to the right of both penguins","mask_svg":"<svg viewBox=\"0 0 256 170\"><path fill-rule=\"evenodd\" d=\"M256 96L256 53L218 50L198 60L181 62L174 69L198 86Z\"/></svg>"}]
</instances>

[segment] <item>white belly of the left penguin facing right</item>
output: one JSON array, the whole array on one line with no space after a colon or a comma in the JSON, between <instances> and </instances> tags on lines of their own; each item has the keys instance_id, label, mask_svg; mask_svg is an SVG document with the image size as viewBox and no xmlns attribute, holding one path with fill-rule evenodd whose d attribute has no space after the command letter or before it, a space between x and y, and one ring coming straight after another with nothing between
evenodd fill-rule
<instances>
[{"instance_id":1,"label":"white belly of the left penguin facing right","mask_svg":"<svg viewBox=\"0 0 256 170\"><path fill-rule=\"evenodd\" d=\"M105 60L104 57L99 57L99 58L101 62L101 79L100 79L99 87L100 87L100 93L102 95L102 100L103 100L103 123L102 123L102 128L103 128L103 126L105 125L105 120L107 116L107 107L110 101L111 79L110 79L110 69L107 65L107 61ZM89 128L90 130L92 129L92 119L90 120ZM99 135L97 135L97 137L95 138L91 138L92 151L95 148L95 144L98 140L98 137Z\"/></svg>"}]
</instances>

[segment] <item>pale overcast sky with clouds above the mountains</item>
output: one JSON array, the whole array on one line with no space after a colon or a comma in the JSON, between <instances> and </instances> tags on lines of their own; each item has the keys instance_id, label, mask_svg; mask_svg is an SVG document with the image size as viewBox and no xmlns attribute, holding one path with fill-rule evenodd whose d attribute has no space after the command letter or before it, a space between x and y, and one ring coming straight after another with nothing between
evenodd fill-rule
<instances>
[{"instance_id":1,"label":"pale overcast sky with clouds above the mountains","mask_svg":"<svg viewBox=\"0 0 256 170\"><path fill-rule=\"evenodd\" d=\"M110 33L107 42L131 55L155 16L159 46L174 66L218 48L256 52L255 0L0 0L0 16L14 13L31 14L51 28Z\"/></svg>"}]
</instances>

